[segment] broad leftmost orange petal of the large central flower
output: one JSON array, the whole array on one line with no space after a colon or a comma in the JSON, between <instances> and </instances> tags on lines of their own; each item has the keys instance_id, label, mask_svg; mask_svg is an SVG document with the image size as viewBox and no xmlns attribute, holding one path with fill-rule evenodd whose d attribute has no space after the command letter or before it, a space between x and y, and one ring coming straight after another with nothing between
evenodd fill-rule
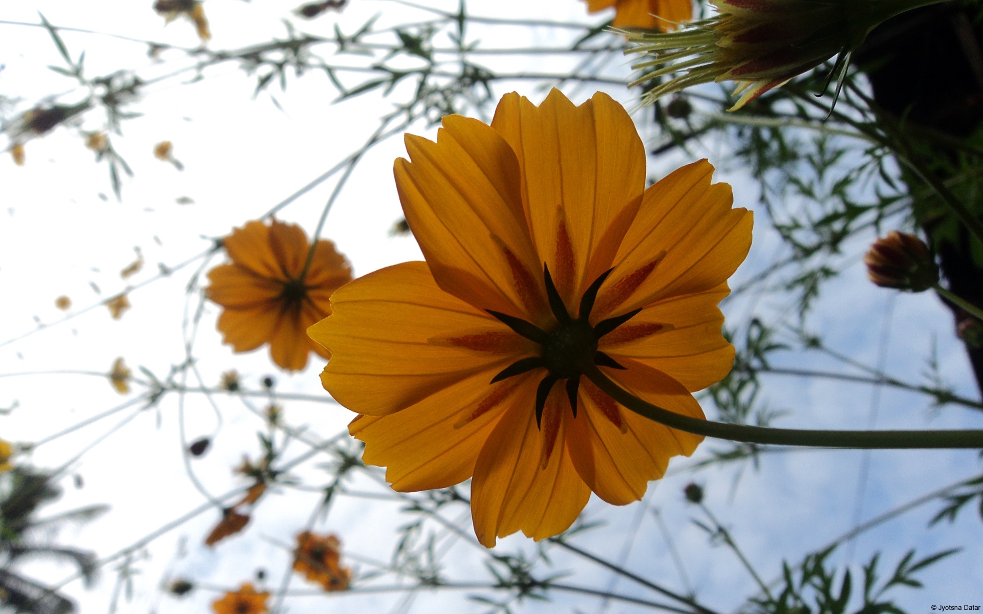
<instances>
[{"instance_id":1,"label":"broad leftmost orange petal of the large central flower","mask_svg":"<svg viewBox=\"0 0 983 614\"><path fill-rule=\"evenodd\" d=\"M404 410L479 372L492 379L533 347L488 313L441 291L424 262L361 277L335 292L331 306L332 317L308 331L325 348L341 351L332 354L321 383L360 414ZM499 333L504 345L473 349L468 337L484 333Z\"/></svg>"}]
</instances>

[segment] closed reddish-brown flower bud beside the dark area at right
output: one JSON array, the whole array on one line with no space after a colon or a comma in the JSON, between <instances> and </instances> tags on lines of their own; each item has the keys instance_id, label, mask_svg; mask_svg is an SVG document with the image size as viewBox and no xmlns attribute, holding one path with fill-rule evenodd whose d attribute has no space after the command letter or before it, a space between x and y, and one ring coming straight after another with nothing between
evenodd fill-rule
<instances>
[{"instance_id":1,"label":"closed reddish-brown flower bud beside the dark area at right","mask_svg":"<svg viewBox=\"0 0 983 614\"><path fill-rule=\"evenodd\" d=\"M896 230L867 251L867 277L878 286L924 292L939 282L939 266L928 246L914 235Z\"/></svg>"}]
</instances>

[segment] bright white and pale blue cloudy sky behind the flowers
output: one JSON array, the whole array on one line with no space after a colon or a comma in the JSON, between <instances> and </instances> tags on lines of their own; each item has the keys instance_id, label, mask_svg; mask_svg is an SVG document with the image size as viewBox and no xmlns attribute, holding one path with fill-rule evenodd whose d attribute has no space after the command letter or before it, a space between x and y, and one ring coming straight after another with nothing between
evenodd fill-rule
<instances>
[{"instance_id":1,"label":"bright white and pale blue cloudy sky behind the flowers","mask_svg":"<svg viewBox=\"0 0 983 614\"><path fill-rule=\"evenodd\" d=\"M280 20L283 18L293 19L302 30L325 34L334 22L351 30L378 12L382 13L380 24L383 25L421 18L420 12L390 2L351 0L351 5L340 16L329 13L316 22L303 22L291 16L290 11L296 7L291 2L208 0L205 10L214 36L209 48L234 49L282 36ZM198 44L190 23L178 20L164 28L163 20L150 6L148 0L104 1L94 8L91 3L53 0L4 3L0 6L0 20L36 23L36 12L40 11L56 26L90 28L188 47ZM440 3L440 6L450 10L455 7L453 3ZM600 17L588 17L583 3L572 0L536 3L473 0L469 9L483 16L602 22ZM475 31L482 32L477 37L492 47L568 43L567 33L551 28L532 31L476 28ZM74 56L86 51L89 75L128 68L137 69L144 76L154 76L188 64L178 51L165 53L162 62L156 63L146 57L146 48L140 44L84 33L63 32L63 37ZM486 61L484 57L478 59ZM562 71L569 66L568 60L542 56L487 61L490 66L510 72ZM6 65L0 72L0 93L23 98L16 107L18 111L30 108L52 92L72 90L69 80L45 68L60 64L60 58L47 32L41 28L0 25L0 63ZM611 74L619 73L627 75L627 67L611 68ZM336 92L322 74L291 78L286 92L274 88L282 110L266 94L252 100L255 79L244 76L231 63L208 69L201 82L187 84L192 75L147 88L145 98L134 105L144 116L124 122L122 137L112 136L136 175L133 180L124 181L122 202L113 197L105 165L93 162L94 154L85 148L78 130L63 127L43 139L29 141L24 167L16 167L9 155L0 156L0 296L3 300L0 343L34 331L35 316L40 322L50 324L0 346L0 374L59 369L105 372L122 356L131 367L142 365L158 376L165 376L172 364L183 360L181 325L187 299L184 288L200 261L132 292L133 308L118 321L111 319L107 309L100 306L58 323L64 314L54 307L55 298L69 296L73 301L70 313L80 312L123 290L128 282L135 285L151 278L157 272L158 262L173 266L207 250L209 238L225 235L232 227L259 217L357 149L376 129L377 118L390 109L390 103L379 100L376 93L332 105ZM353 79L348 83L356 82ZM500 86L496 93L512 88L537 102L544 95L539 84L533 82ZM623 89L608 87L607 91L628 104L632 102L630 94ZM593 89L567 92L579 102L589 97ZM401 100L402 95L397 90L393 99ZM59 101L74 99L69 93ZM87 115L83 128L99 130L100 122L98 114ZM435 128L423 125L414 129L418 134L433 135L434 131ZM643 131L643 138L653 137ZM174 142L174 155L185 165L183 172L153 158L153 144L160 140ZM0 148L5 146L0 142ZM706 155L723 167L718 179L734 185L735 203L753 208L756 189L742 169L728 168L730 160L725 148L707 141L697 149L699 155ZM395 157L404 154L398 138L377 146L360 164L328 216L324 237L334 241L349 257L358 275L421 257L412 238L388 235L389 228L400 217L391 164ZM675 161L689 159L680 155ZM650 174L664 175L669 166L665 162L661 165L665 166L651 168ZM319 186L285 208L279 218L299 223L310 233L333 185L333 181L328 181ZM194 203L178 204L176 199L181 196L193 198ZM736 283L774 259L779 249L774 235L766 230L763 212L756 221L755 245L748 262L738 272ZM850 246L852 253L847 256L858 256L865 246L865 242L856 242ZM119 271L133 261L135 247L143 251L146 264L143 271L124 282ZM221 260L219 254L212 263ZM855 265L827 288L810 326L823 330L832 347L863 363L875 364L885 308L892 295L869 284L859 259L853 257L853 261ZM90 282L98 286L101 294L93 291ZM192 305L197 305L197 300ZM767 297L760 301L747 297L728 304L725 311L728 316L738 318L752 312L768 318L785 307ZM249 389L259 389L261 377L270 373L277 379L279 392L323 394L317 377L322 361L317 357L304 372L287 375L269 362L265 349L233 355L228 347L221 345L220 335L214 330L217 312L214 306L206 306L195 346L208 385L215 385L222 371L236 368ZM966 361L953 337L951 316L937 300L928 295L897 296L890 325L893 334L886 361L889 373L920 381L925 360L935 343L942 373L960 394L976 396ZM786 355L786 358L787 363L782 365L843 369L841 364L817 356ZM872 390L868 386L786 376L764 377L767 378L765 396L770 405L794 410L792 416L781 419L782 426L863 428L868 425L872 404ZM0 436L14 441L37 441L126 400L101 377L5 376L0 378L0 407L10 407L15 401L20 405L10 416L0 417ZM205 487L218 495L246 484L245 480L232 476L230 469L243 454L254 458L259 454L255 433L262 423L237 399L218 396L216 402L222 417L221 428L207 455L194 460L193 465ZM256 399L255 405L262 408L263 400ZM343 430L351 418L348 411L334 405L289 401L283 405L291 424L307 425L309 432L318 438ZM884 428L979 426L978 413L950 408L936 416L929 412L929 405L925 397L885 389L880 396L877 425ZM38 467L59 466L132 413L133 409L124 409L41 445L29 460ZM216 433L215 413L203 396L189 395L184 414L189 440ZM54 513L92 503L109 503L112 510L87 526L62 531L58 536L60 542L92 549L99 556L110 555L202 504L202 495L185 474L178 418L178 398L172 395L160 404L159 412L150 410L137 415L73 464L72 473L81 474L85 486L76 489L70 479L64 480L65 496L44 511ZM697 457L713 447L713 443L704 444ZM304 451L303 444L295 443L286 456L290 458ZM735 489L731 488L735 468L710 470L696 475L695 479L705 484L709 505L732 531L761 575L772 579L780 572L783 557L794 562L851 528L860 458L860 452L832 451L766 455L760 471L746 468ZM326 474L318 469L320 462L317 459L307 463L298 474L307 483L323 483ZM706 534L689 522L697 516L697 511L685 505L681 488L694 477L675 470L689 463L673 461L670 473L675 475L653 482L644 504L611 508L592 499L585 520L607 524L580 536L577 543L611 560L618 560L630 546L626 560L631 570L685 592L686 585L679 579L665 538L651 514L651 510L658 509L675 547L682 553L688 581L700 601L727 612L751 593L752 582L729 551L710 545ZM979 462L972 452L875 452L871 455L862 518L872 518L978 472ZM359 481L356 487L386 492L369 480ZM308 522L317 497L317 493L296 491L267 496L260 502L249 529L213 550L201 543L217 521L217 511L209 510L166 533L138 553L135 570L139 574L134 578L132 598L129 601L121 598L118 611L176 614L208 611L208 603L217 596L215 592L199 590L184 599L161 593L161 584L178 576L232 587L250 580L257 568L264 568L268 572L268 586L279 586L290 560L283 544L293 543L296 532ZM930 504L865 533L852 557L853 562L866 561L872 552L883 550L882 574L887 575L909 547L917 546L919 554L924 556L944 548L968 546L920 576L927 586L925 590L901 588L895 593L898 603L911 612L927 611L931 603L983 601L983 590L979 587L983 586L983 551L978 548L983 537L980 520L970 509L952 526L943 524L926 530L926 522L938 507ZM337 533L346 555L352 555L345 559L347 563L366 572L371 567L358 564L355 556L388 560L394 542L392 529L409 522L406 516L395 513L397 509L393 504L377 500L344 497L332 508L326 523L318 524L317 530ZM458 514L464 516L458 518ZM470 534L466 510L460 506L451 508L448 518L461 521L460 525ZM183 556L178 555L180 543L186 543ZM503 551L511 551L528 549L531 542L517 535L499 543ZM568 579L571 583L600 588L614 586L607 572L558 551L553 554L555 566L544 573L575 572ZM846 550L841 549L834 560L842 563L846 557ZM481 549L464 540L453 542L444 558L448 576L489 581L483 560ZM104 569L101 581L90 590L78 582L65 586L64 590L78 600L86 614L107 611L114 591L115 568L114 563ZM51 583L71 573L68 567L49 565L30 566L27 571ZM854 569L854 574L858 571ZM859 581L859 576L854 580ZM295 578L291 586L314 587L300 578ZM625 581L614 587L626 594L661 600L651 591ZM408 605L416 612L484 611L485 606L467 601L466 596L464 591L421 593ZM560 593L554 597L566 605L566 611L572 611L574 606L584 612L605 609L593 598ZM401 596L391 594L335 594L329 598L296 597L287 603L290 611L299 613L323 612L326 607L338 612L385 612L390 608L403 611L399 609L401 600ZM533 603L529 609L553 611L553 607ZM643 610L611 603L606 611Z\"/></svg>"}]
</instances>

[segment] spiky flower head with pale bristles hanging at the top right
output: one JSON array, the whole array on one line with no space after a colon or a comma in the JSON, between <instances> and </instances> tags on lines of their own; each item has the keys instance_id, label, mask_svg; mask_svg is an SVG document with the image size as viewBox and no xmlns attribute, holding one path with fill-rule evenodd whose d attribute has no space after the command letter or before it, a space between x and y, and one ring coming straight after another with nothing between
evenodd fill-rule
<instances>
[{"instance_id":1,"label":"spiky flower head with pale bristles hanging at the top right","mask_svg":"<svg viewBox=\"0 0 983 614\"><path fill-rule=\"evenodd\" d=\"M674 32L624 32L645 54L632 85L675 75L645 94L655 102L690 85L737 82L730 111L833 56L832 75L867 33L908 9L937 0L710 0L719 14Z\"/></svg>"}]
</instances>

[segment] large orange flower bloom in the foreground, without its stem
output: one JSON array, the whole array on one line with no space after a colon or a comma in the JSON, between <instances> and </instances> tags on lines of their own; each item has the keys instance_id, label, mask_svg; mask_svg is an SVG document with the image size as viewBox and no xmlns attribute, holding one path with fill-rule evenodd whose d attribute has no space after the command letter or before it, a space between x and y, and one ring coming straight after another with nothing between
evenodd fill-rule
<instances>
[{"instance_id":1,"label":"large orange flower bloom in the foreground, without its stem","mask_svg":"<svg viewBox=\"0 0 983 614\"><path fill-rule=\"evenodd\" d=\"M706 161L645 189L645 147L617 102L518 94L492 126L449 115L395 165L427 262L358 279L312 326L321 382L361 416L363 460L401 491L473 476L486 546L570 527L591 491L622 505L702 437L626 411L640 398L703 418L690 394L730 370L717 304L751 244L751 213ZM563 380L562 385L555 385Z\"/></svg>"}]
</instances>

